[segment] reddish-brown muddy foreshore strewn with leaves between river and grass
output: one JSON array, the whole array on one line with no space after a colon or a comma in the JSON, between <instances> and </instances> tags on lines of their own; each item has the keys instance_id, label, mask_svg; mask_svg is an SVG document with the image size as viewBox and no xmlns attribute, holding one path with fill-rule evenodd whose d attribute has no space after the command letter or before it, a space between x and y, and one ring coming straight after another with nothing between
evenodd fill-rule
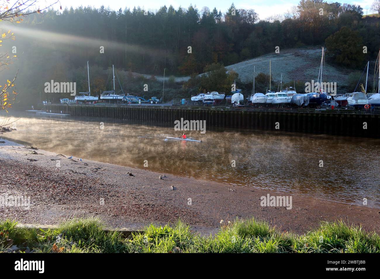
<instances>
[{"instance_id":1,"label":"reddish-brown muddy foreshore strewn with leaves between river and grass","mask_svg":"<svg viewBox=\"0 0 380 279\"><path fill-rule=\"evenodd\" d=\"M181 219L195 231L215 233L220 220L253 216L294 233L314 229L321 221L335 220L380 232L377 208L299 195L292 195L291 210L284 206L263 207L261 196L287 194L170 174L160 179L162 173L86 159L81 162L79 158L70 160L70 154L64 154L65 158L3 138L1 141L5 143L0 143L0 196L30 197L30 209L0 206L1 220L59 224L74 217L95 216L113 227L142 227Z\"/></svg>"}]
</instances>

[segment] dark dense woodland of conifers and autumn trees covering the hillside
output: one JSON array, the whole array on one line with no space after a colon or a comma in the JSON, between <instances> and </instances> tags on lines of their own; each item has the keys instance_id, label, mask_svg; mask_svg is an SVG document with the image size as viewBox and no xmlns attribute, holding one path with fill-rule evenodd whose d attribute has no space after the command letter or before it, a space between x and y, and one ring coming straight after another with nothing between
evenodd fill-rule
<instances>
[{"instance_id":1,"label":"dark dense woodland of conifers and autumn trees covering the hillside","mask_svg":"<svg viewBox=\"0 0 380 279\"><path fill-rule=\"evenodd\" d=\"M157 11L140 7L114 11L105 6L49 9L10 26L16 41L4 45L10 48L14 44L21 53L10 66L13 71L20 69L16 84L21 91L37 94L51 79L73 80L79 91L87 91L85 66L90 61L94 92L111 89L107 69L113 64L128 93L141 95L146 83L132 72L152 75L150 96L162 91L154 76L162 76L164 69L166 76L195 75L207 67L220 68L275 52L276 46L281 51L325 45L326 58L351 69L363 69L365 61L375 60L379 51L380 20L363 17L363 9L357 5L301 0L283 15L264 20L259 16L253 9L239 9L233 3L225 11L192 5L177 9L164 5ZM171 90L168 98L227 90L231 79L240 87L250 87L239 84L235 73L213 76L225 80L193 79L185 86L172 80L167 85ZM204 88L204 84L217 84L218 88Z\"/></svg>"}]
</instances>

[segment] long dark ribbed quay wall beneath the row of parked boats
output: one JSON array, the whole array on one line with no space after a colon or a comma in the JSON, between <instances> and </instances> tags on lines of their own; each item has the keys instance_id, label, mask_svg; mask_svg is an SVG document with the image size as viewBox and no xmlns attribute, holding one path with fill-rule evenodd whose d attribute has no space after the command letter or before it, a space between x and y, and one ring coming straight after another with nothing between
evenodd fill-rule
<instances>
[{"instance_id":1,"label":"long dark ribbed quay wall beneath the row of parked boats","mask_svg":"<svg viewBox=\"0 0 380 279\"><path fill-rule=\"evenodd\" d=\"M68 111L74 117L113 118L154 124L172 123L173 127L175 120L183 118L206 120L206 129L212 126L380 138L378 112L89 104L48 104L44 105L43 109ZM365 127L367 129L364 129Z\"/></svg>"}]
</instances>

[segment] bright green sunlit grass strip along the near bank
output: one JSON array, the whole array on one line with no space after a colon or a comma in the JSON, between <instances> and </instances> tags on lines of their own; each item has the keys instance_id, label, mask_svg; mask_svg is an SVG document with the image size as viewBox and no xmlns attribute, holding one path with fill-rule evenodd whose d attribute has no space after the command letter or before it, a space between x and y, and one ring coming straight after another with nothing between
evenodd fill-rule
<instances>
[{"instance_id":1,"label":"bright green sunlit grass strip along the near bank","mask_svg":"<svg viewBox=\"0 0 380 279\"><path fill-rule=\"evenodd\" d=\"M74 219L55 230L22 229L16 222L0 222L0 252L71 253L378 253L380 236L342 221L324 222L305 235L280 233L268 223L236 219L222 225L215 236L203 237L177 222L146 227L125 238L119 232L105 232L98 219ZM16 247L17 246L17 247Z\"/></svg>"}]
</instances>

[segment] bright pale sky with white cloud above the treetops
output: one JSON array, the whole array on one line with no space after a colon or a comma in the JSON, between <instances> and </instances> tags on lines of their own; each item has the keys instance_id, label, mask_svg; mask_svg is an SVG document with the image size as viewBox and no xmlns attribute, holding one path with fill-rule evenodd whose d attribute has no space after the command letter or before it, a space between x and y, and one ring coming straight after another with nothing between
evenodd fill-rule
<instances>
[{"instance_id":1,"label":"bright pale sky with white cloud above the treetops","mask_svg":"<svg viewBox=\"0 0 380 279\"><path fill-rule=\"evenodd\" d=\"M374 0L331 0L327 2L339 2L350 3L360 5L363 8L364 14L368 9L368 14L372 14L370 6ZM200 10L204 6L213 9L216 7L218 10L225 13L230 7L231 3L234 3L237 9L254 9L259 14L260 19L272 16L274 14L284 14L292 6L297 5L299 0L139 0L139 1L121 1L121 0L60 0L62 8L64 7L76 7L76 6L93 6L99 8L101 5L109 6L111 9L118 10L125 7L133 8L134 6L144 7L148 10L157 10L160 6L166 5L167 7L173 5L174 8L182 6L187 8L190 4L196 5ZM42 2L40 2L42 3ZM59 4L58 4L59 7Z\"/></svg>"}]
</instances>

